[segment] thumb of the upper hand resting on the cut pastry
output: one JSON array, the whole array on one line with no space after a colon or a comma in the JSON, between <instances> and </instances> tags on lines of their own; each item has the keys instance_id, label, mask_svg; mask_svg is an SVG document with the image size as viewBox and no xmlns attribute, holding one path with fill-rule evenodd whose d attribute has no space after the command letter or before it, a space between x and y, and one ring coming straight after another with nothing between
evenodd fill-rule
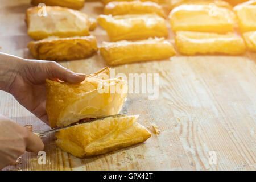
<instances>
[{"instance_id":1,"label":"thumb of the upper hand resting on the cut pastry","mask_svg":"<svg viewBox=\"0 0 256 182\"><path fill-rule=\"evenodd\" d=\"M48 64L48 71L52 78L59 78L62 81L69 82L69 83L79 83L84 81L86 75L82 73L75 73L71 70L62 67L61 65L53 62Z\"/></svg>"}]
</instances>

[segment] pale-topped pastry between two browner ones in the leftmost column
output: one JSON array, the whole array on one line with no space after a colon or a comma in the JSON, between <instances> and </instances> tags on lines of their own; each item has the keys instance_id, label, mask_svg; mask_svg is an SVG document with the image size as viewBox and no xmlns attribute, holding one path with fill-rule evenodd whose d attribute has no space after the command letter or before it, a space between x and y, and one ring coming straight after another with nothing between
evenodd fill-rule
<instances>
[{"instance_id":1,"label":"pale-topped pastry between two browner ones in the leftmost column","mask_svg":"<svg viewBox=\"0 0 256 182\"><path fill-rule=\"evenodd\" d=\"M35 40L49 36L86 36L96 24L80 11L59 6L31 7L27 9L26 21L28 35Z\"/></svg>"}]
</instances>

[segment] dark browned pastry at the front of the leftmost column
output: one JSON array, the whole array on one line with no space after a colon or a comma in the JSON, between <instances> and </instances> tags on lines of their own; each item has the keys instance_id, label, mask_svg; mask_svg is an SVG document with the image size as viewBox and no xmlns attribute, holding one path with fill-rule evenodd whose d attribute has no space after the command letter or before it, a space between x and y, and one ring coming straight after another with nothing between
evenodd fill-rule
<instances>
[{"instance_id":1,"label":"dark browned pastry at the front of the leftmost column","mask_svg":"<svg viewBox=\"0 0 256 182\"><path fill-rule=\"evenodd\" d=\"M93 35L72 38L49 37L31 41L28 43L28 49L36 59L53 61L83 59L98 50Z\"/></svg>"}]
</instances>

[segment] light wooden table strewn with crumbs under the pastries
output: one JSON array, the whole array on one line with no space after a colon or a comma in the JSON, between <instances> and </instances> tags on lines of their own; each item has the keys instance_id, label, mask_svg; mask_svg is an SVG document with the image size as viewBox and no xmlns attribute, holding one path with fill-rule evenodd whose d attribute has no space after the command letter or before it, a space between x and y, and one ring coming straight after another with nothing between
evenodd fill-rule
<instances>
[{"instance_id":1,"label":"light wooden table strewn with crumbs under the pastries","mask_svg":"<svg viewBox=\"0 0 256 182\"><path fill-rule=\"evenodd\" d=\"M31 38L24 22L29 0L2 0L0 46L2 52L32 59ZM86 2L82 12L96 18L100 2ZM170 27L169 27L170 29ZM92 32L98 44L109 40L98 26ZM173 43L173 34L168 38ZM256 53L244 56L181 56L168 60L115 67L116 73L159 73L159 99L129 94L125 110L140 114L138 122L152 131L146 142L94 158L79 159L56 147L53 135L43 138L46 165L37 154L22 155L21 163L5 169L22 170L255 170ZM79 73L105 67L102 57L60 63ZM0 92L0 113L35 131L49 129L5 92ZM217 163L210 164L214 151Z\"/></svg>"}]
</instances>

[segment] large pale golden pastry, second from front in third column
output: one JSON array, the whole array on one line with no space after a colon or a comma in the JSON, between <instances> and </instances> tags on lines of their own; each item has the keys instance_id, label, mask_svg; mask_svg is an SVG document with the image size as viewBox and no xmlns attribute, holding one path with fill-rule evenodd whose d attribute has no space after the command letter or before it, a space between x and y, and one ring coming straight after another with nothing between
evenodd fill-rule
<instances>
[{"instance_id":1,"label":"large pale golden pastry, second from front in third column","mask_svg":"<svg viewBox=\"0 0 256 182\"><path fill-rule=\"evenodd\" d=\"M233 31L234 13L214 4L180 5L169 15L173 31L200 31L226 33Z\"/></svg>"}]
</instances>

